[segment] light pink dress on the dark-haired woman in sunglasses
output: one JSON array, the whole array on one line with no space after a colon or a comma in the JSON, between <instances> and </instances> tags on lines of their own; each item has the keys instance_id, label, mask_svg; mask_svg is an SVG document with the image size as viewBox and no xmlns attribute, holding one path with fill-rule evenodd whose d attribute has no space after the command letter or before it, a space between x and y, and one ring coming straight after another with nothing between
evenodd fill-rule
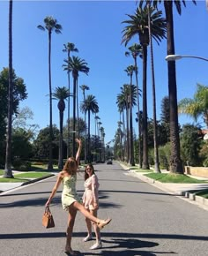
<instances>
[{"instance_id":1,"label":"light pink dress on the dark-haired woman in sunglasses","mask_svg":"<svg viewBox=\"0 0 208 256\"><path fill-rule=\"evenodd\" d=\"M86 209L93 210L94 203L99 206L98 200L98 177L93 174L85 180L85 192L83 194L83 203Z\"/></svg>"}]
</instances>

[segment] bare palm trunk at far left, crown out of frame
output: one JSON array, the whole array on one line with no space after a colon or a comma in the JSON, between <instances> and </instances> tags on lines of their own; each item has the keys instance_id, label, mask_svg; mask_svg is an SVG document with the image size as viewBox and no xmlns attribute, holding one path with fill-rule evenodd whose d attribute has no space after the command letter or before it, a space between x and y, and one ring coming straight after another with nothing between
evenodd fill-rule
<instances>
[{"instance_id":1,"label":"bare palm trunk at far left, crown out of frame","mask_svg":"<svg viewBox=\"0 0 208 256\"><path fill-rule=\"evenodd\" d=\"M4 177L13 177L11 170L11 119L13 104L13 70L12 70L12 11L13 1L9 3L9 96L8 96L8 124L6 134L6 157Z\"/></svg>"}]
</instances>

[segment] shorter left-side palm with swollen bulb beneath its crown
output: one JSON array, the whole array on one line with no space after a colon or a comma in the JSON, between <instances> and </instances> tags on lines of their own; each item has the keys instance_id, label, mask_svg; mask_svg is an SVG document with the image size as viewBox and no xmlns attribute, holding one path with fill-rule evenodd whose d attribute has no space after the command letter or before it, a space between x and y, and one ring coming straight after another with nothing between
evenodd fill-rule
<instances>
[{"instance_id":1,"label":"shorter left-side palm with swollen bulb beneath its crown","mask_svg":"<svg viewBox=\"0 0 208 256\"><path fill-rule=\"evenodd\" d=\"M65 110L64 100L69 97L69 89L66 87L56 87L53 93L53 99L58 100L57 107L59 109L59 154L58 154L58 169L63 169L63 111Z\"/></svg>"}]
</instances>

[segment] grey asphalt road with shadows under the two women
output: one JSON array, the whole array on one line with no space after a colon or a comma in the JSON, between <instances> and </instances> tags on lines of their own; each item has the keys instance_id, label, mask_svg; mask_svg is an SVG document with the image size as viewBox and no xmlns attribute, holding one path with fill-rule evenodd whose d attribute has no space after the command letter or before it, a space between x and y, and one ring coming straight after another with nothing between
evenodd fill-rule
<instances>
[{"instance_id":1,"label":"grey asphalt road with shadows under the two women","mask_svg":"<svg viewBox=\"0 0 208 256\"><path fill-rule=\"evenodd\" d=\"M98 164L95 169L100 180L99 217L113 220L101 230L103 248L91 251L94 241L82 242L85 219L78 213L72 247L79 255L207 255L207 211L130 176L116 162ZM51 177L0 196L0 255L65 255L67 213L61 206L62 188L51 204L56 227L46 230L41 226L44 204L55 181ZM79 174L80 195L83 184L83 174Z\"/></svg>"}]
</instances>

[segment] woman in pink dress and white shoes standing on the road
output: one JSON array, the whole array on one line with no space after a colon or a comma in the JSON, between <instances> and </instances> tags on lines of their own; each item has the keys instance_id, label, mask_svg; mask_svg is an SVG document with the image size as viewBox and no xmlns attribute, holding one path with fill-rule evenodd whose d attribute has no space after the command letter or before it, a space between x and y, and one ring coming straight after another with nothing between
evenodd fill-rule
<instances>
[{"instance_id":1,"label":"woman in pink dress and white shoes standing on the road","mask_svg":"<svg viewBox=\"0 0 208 256\"><path fill-rule=\"evenodd\" d=\"M98 177L94 173L93 164L88 164L85 167L85 192L83 195L83 204L85 209L87 209L93 216L97 217L98 208L99 208L99 199L98 199L98 188L99 182ZM92 236L92 222L88 218L85 218L86 228L88 231L87 236L84 238L84 242L93 239ZM100 249L102 247L100 239L100 229L93 222L93 230L96 237L96 243L90 247L90 249Z\"/></svg>"}]
</instances>

